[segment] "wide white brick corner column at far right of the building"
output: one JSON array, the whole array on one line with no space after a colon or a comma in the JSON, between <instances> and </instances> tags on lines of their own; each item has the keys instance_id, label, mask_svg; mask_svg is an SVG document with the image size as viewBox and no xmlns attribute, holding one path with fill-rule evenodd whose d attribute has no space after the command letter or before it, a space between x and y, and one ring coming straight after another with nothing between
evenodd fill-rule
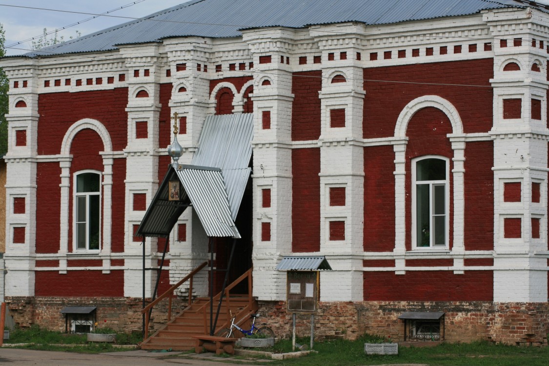
<instances>
[{"instance_id":1,"label":"wide white brick corner column at far right of the building","mask_svg":"<svg viewBox=\"0 0 549 366\"><path fill-rule=\"evenodd\" d=\"M547 40L546 23L526 10L488 13L485 21L494 37L495 53L490 131L494 140L494 301L546 302L549 83L546 50L536 41ZM510 63L513 67L506 67ZM510 198L512 188L518 193Z\"/></svg>"}]
</instances>

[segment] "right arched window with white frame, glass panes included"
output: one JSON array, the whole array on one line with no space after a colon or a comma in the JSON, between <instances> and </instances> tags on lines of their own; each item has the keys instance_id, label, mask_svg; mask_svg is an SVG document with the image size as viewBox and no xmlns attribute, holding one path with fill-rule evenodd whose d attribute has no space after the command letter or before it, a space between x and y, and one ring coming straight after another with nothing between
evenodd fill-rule
<instances>
[{"instance_id":1,"label":"right arched window with white frame, glass panes included","mask_svg":"<svg viewBox=\"0 0 549 366\"><path fill-rule=\"evenodd\" d=\"M449 164L444 157L412 161L412 240L416 248L444 248L449 237Z\"/></svg>"}]
</instances>

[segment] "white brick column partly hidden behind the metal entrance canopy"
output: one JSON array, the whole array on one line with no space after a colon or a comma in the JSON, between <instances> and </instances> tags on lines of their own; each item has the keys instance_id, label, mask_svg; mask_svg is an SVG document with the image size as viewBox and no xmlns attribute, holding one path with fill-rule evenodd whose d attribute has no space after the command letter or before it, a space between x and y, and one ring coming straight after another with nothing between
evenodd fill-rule
<instances>
[{"instance_id":1,"label":"white brick column partly hidden behind the metal entrance canopy","mask_svg":"<svg viewBox=\"0 0 549 366\"><path fill-rule=\"evenodd\" d=\"M173 38L165 40L164 46L170 64L172 92L170 99L171 116L176 112L177 121L171 120L178 128L177 140L183 148L180 164L191 164L198 148L198 139L206 116L214 108L210 103L210 74L214 65L211 59L211 41L203 38ZM198 67L200 65L200 68ZM171 135L173 138L173 134ZM161 146L161 149L165 147ZM183 229L184 228L184 229ZM180 233L179 230L184 230ZM208 237L201 226L194 209L189 207L178 219L170 235L170 281L176 283L201 263L208 261ZM208 294L208 273L200 272L194 279L193 294ZM188 291L188 283L180 291Z\"/></svg>"}]
</instances>

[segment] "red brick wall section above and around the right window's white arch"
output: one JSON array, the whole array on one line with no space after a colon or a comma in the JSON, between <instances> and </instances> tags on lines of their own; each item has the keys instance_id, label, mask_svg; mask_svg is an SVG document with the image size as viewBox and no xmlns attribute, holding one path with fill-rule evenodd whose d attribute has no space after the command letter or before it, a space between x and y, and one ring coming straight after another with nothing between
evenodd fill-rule
<instances>
[{"instance_id":1,"label":"red brick wall section above and around the right window's white arch","mask_svg":"<svg viewBox=\"0 0 549 366\"><path fill-rule=\"evenodd\" d=\"M438 95L452 103L460 114L465 133L488 132L493 119L492 108L486 108L486 105L492 105L492 89L447 84L490 86L490 78L493 76L494 65L491 58L367 68L364 70L366 97L363 136L394 136L395 121L402 109L413 99L423 95ZM391 81L406 81L411 84Z\"/></svg>"}]
</instances>

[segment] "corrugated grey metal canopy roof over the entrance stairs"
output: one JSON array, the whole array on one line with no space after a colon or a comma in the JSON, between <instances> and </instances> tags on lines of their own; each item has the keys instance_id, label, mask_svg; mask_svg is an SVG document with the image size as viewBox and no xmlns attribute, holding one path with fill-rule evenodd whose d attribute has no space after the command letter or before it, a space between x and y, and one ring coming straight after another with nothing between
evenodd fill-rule
<instances>
[{"instance_id":1,"label":"corrugated grey metal canopy roof over the entrance stairs","mask_svg":"<svg viewBox=\"0 0 549 366\"><path fill-rule=\"evenodd\" d=\"M209 116L191 165L170 165L135 235L167 238L187 207L194 207L209 237L240 238L234 220L251 168L253 114ZM180 199L169 199L180 181Z\"/></svg>"}]
</instances>

